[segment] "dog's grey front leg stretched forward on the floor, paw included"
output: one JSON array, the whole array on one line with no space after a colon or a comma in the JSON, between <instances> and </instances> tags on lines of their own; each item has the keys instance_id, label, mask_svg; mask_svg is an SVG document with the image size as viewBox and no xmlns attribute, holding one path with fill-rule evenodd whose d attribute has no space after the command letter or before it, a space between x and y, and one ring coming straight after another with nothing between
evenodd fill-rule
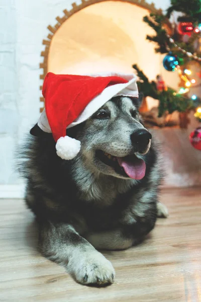
<instances>
[{"instance_id":1,"label":"dog's grey front leg stretched forward on the floor, paw included","mask_svg":"<svg viewBox=\"0 0 201 302\"><path fill-rule=\"evenodd\" d=\"M71 225L46 221L39 226L42 254L64 266L77 282L97 285L113 283L115 270L111 262Z\"/></svg>"}]
</instances>

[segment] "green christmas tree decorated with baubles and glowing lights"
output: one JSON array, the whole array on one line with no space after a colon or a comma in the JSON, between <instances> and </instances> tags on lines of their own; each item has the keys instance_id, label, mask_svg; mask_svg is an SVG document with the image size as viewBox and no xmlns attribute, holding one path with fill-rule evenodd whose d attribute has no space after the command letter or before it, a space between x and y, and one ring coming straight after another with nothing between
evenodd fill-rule
<instances>
[{"instance_id":1,"label":"green christmas tree decorated with baubles and glowing lights","mask_svg":"<svg viewBox=\"0 0 201 302\"><path fill-rule=\"evenodd\" d=\"M171 22L173 12L179 12L177 22ZM171 0L166 14L151 13L144 17L144 22L155 31L153 36L147 35L147 40L155 42L156 53L166 54L163 66L170 72L178 72L180 83L178 91L174 91L164 85L159 75L155 82L149 82L143 71L134 64L133 68L140 79L139 90L143 91L145 97L159 100L159 117L165 112L178 111L180 127L185 128L190 110L196 111L194 116L201 119L201 108L198 107L200 98L190 91L191 88L201 87L191 70L193 66L201 78L201 1Z\"/></svg>"}]
</instances>

